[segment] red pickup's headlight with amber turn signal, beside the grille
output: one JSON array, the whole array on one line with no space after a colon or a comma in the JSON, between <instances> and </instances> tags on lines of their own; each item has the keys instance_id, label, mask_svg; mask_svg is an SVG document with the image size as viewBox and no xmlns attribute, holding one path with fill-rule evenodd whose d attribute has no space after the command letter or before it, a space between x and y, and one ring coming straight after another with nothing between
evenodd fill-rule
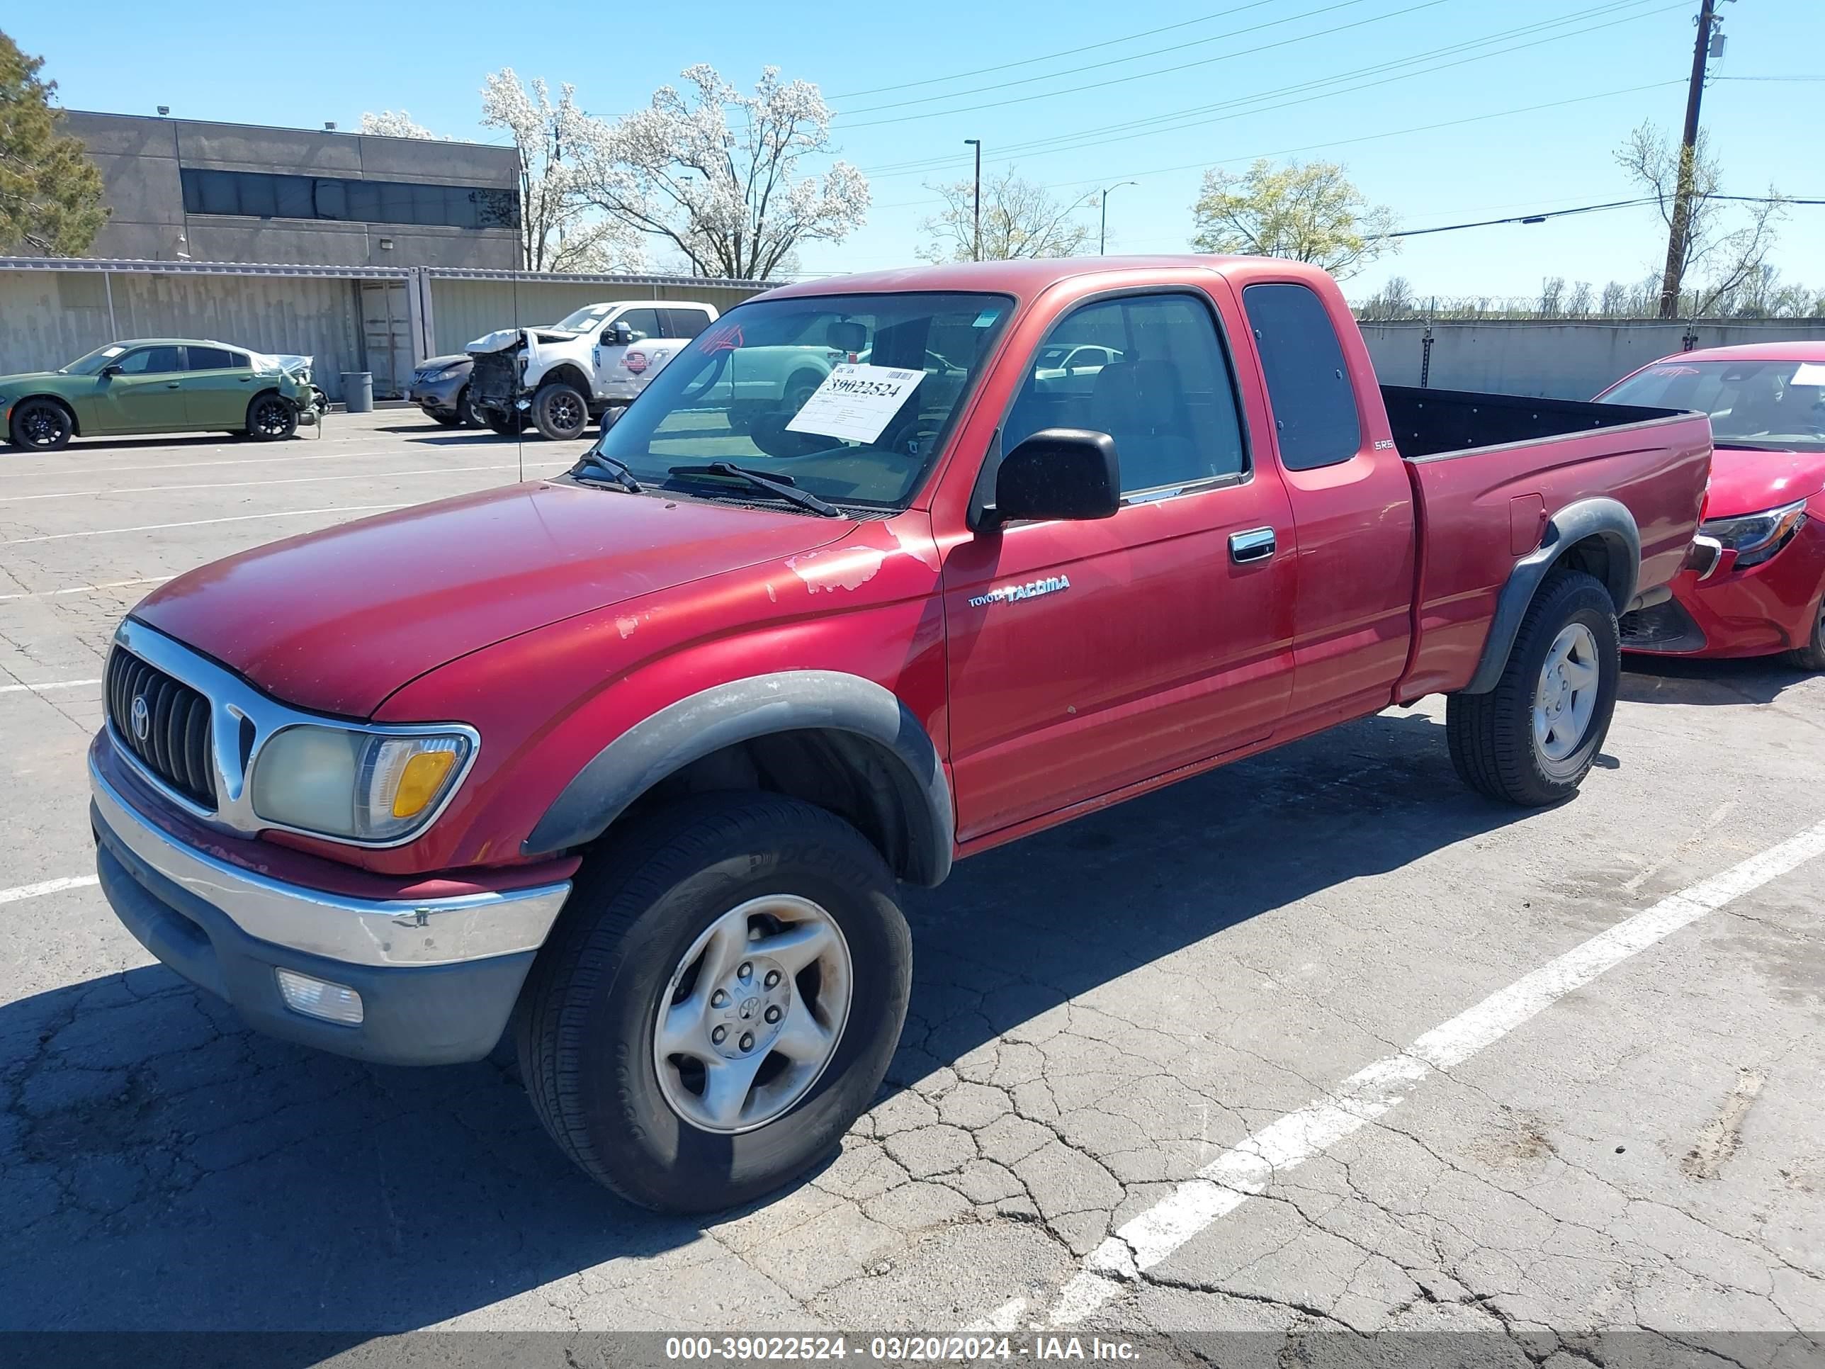
<instances>
[{"instance_id":1,"label":"red pickup's headlight with amber turn signal, beside the grille","mask_svg":"<svg viewBox=\"0 0 1825 1369\"><path fill-rule=\"evenodd\" d=\"M473 754L464 732L299 723L274 732L254 758L254 812L321 836L391 841L431 821Z\"/></svg>"}]
</instances>

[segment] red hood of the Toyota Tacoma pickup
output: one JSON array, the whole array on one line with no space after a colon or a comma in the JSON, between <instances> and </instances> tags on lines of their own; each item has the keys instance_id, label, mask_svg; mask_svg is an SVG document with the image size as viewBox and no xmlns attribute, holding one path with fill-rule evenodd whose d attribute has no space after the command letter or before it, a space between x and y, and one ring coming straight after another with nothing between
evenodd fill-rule
<instances>
[{"instance_id":1,"label":"red hood of the Toyota Tacoma pickup","mask_svg":"<svg viewBox=\"0 0 1825 1369\"><path fill-rule=\"evenodd\" d=\"M299 708L370 716L445 661L854 524L524 484L327 528L181 575L133 617Z\"/></svg>"}]
</instances>

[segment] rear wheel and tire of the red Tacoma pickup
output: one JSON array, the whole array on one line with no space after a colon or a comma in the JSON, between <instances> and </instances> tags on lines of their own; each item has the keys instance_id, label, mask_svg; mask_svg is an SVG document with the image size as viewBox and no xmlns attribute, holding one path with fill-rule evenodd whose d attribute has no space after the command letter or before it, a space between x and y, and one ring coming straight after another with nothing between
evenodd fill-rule
<instances>
[{"instance_id":1,"label":"rear wheel and tire of the red Tacoma pickup","mask_svg":"<svg viewBox=\"0 0 1825 1369\"><path fill-rule=\"evenodd\" d=\"M1548 672L1549 657L1564 657L1560 648L1568 644L1566 664ZM1595 683L1582 688L1571 683L1582 675L1575 670L1580 664L1595 668ZM1445 737L1458 778L1478 794L1529 809L1570 798L1610 734L1621 674L1610 591L1584 571L1548 575L1520 621L1496 686L1445 699ZM1542 723L1551 728L1546 741Z\"/></svg>"}]
</instances>

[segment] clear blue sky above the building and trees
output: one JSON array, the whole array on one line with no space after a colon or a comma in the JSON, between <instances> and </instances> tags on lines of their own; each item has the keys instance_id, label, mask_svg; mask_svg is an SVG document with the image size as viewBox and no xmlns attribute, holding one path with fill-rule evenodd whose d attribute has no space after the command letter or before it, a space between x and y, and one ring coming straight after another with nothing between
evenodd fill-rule
<instances>
[{"instance_id":1,"label":"clear blue sky above the building and trees","mask_svg":"<svg viewBox=\"0 0 1825 1369\"><path fill-rule=\"evenodd\" d=\"M1726 78L1705 95L1705 124L1726 190L1774 183L1825 197L1825 82L1759 80L1825 75L1825 4L1721 9L1728 49L1714 73ZM841 155L871 173L869 225L801 252L805 270L841 272L912 259L933 212L923 183L969 173L967 137L984 141L986 175L1013 162L1060 195L1137 181L1110 195L1111 252L1186 250L1199 170L1241 170L1257 153L1343 161L1407 228L1626 199L1611 152L1644 117L1677 128L1695 11L1697 0L922 0L566 5L540 18L498 0L318 0L230 22L206 7L122 7L104 42L82 5L15 11L5 27L47 58L71 108L170 104L303 128L403 108L456 137L489 137L478 88L502 66L575 82L591 113L615 115L690 62L737 84L777 64L823 88ZM1148 29L1159 31L1130 37ZM1086 51L1048 57L1073 47ZM1155 122L1111 128L1135 120ZM1062 135L1079 137L1011 152ZM1084 214L1095 221L1093 206ZM1652 208L1617 210L1407 239L1347 288L1356 298L1402 274L1420 294L1529 296L1546 276L1633 281L1661 252ZM1825 287L1825 206L1788 210L1772 261Z\"/></svg>"}]
</instances>

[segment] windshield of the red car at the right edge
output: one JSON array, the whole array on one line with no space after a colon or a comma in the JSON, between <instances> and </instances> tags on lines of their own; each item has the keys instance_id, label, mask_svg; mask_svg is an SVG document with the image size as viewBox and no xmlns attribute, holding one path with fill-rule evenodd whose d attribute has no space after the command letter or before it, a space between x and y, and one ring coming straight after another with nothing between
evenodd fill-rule
<instances>
[{"instance_id":1,"label":"windshield of the red car at the right edge","mask_svg":"<svg viewBox=\"0 0 1825 1369\"><path fill-rule=\"evenodd\" d=\"M1604 403L1697 409L1719 447L1825 453L1825 360L1657 361Z\"/></svg>"}]
</instances>

